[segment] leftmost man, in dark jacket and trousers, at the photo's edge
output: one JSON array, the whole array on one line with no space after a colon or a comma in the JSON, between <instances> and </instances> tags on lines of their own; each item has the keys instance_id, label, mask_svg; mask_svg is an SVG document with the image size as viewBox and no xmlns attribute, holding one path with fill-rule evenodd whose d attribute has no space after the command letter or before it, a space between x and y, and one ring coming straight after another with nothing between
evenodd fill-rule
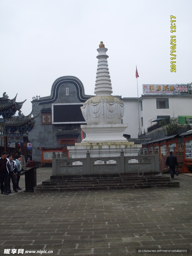
<instances>
[{"instance_id":1,"label":"leftmost man, in dark jacket and trousers, at the photo's edge","mask_svg":"<svg viewBox=\"0 0 192 256\"><path fill-rule=\"evenodd\" d=\"M8 195L7 189L8 189L8 174L10 170L10 162L7 158L7 152L2 153L2 157L0 158L0 189L1 189L1 195L4 194Z\"/></svg>"}]
</instances>

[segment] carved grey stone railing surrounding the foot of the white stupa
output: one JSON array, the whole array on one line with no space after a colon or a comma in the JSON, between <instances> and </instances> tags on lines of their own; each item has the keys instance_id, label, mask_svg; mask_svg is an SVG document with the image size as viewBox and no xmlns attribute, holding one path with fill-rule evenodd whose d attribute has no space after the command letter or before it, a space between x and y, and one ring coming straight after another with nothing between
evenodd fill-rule
<instances>
[{"instance_id":1,"label":"carved grey stone railing surrounding the foot of the white stupa","mask_svg":"<svg viewBox=\"0 0 192 256\"><path fill-rule=\"evenodd\" d=\"M90 174L116 174L116 173L143 173L158 172L158 151L154 155L146 152L139 156L124 156L124 151L118 157L90 157L87 151L86 158L67 158L62 153L57 156L53 152L52 175L90 175Z\"/></svg>"}]
</instances>

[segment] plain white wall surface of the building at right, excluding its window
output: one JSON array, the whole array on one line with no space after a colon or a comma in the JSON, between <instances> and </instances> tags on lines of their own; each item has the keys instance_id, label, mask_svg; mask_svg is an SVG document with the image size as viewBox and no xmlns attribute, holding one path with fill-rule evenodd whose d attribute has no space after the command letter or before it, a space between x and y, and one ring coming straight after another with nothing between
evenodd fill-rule
<instances>
[{"instance_id":1,"label":"plain white wall surface of the building at right, excluding its window","mask_svg":"<svg viewBox=\"0 0 192 256\"><path fill-rule=\"evenodd\" d=\"M157 115L170 115L170 117L178 117L179 115L192 116L192 98L187 97L171 97L169 99L168 109L157 109L156 98L158 97L141 97L139 99L140 109L140 129L142 133L147 132L147 128L151 126L149 120L157 118ZM165 97L166 98L166 97ZM141 101L143 105L143 111L141 111ZM137 138L139 131L138 122L138 102L137 100L123 100L125 105L125 112L123 117L123 123L127 123L128 127L125 129L125 134L130 134L131 138ZM141 126L141 118L143 117L143 127ZM155 124L152 123L152 125Z\"/></svg>"}]
</instances>

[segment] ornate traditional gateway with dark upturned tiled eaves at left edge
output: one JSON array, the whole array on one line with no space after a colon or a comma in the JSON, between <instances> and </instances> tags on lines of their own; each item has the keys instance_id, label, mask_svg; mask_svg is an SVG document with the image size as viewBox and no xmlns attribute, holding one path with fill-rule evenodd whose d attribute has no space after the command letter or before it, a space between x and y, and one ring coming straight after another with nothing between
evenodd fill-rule
<instances>
[{"instance_id":1,"label":"ornate traditional gateway with dark upturned tiled eaves at left edge","mask_svg":"<svg viewBox=\"0 0 192 256\"><path fill-rule=\"evenodd\" d=\"M0 129L4 138L3 150L13 153L10 152L10 145L12 145L12 147L18 146L20 154L25 155L28 152L26 145L26 152L24 152L23 143L24 140L25 144L28 142L27 133L33 129L37 116L32 117L32 112L27 116L22 114L20 109L26 100L16 102L16 97L17 95L14 99L10 100L8 99L9 97L7 96L6 92L4 92L3 97L0 98L0 115L2 116L0 119ZM16 111L19 111L18 116L14 116Z\"/></svg>"}]
</instances>

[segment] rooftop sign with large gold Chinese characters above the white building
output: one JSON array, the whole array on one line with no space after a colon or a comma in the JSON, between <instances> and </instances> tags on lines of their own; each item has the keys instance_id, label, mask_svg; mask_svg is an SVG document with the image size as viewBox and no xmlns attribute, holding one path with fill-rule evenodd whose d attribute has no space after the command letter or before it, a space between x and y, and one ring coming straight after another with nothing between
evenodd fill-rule
<instances>
[{"instance_id":1,"label":"rooftop sign with large gold Chinese characters above the white building","mask_svg":"<svg viewBox=\"0 0 192 256\"><path fill-rule=\"evenodd\" d=\"M143 84L143 94L189 93L188 85L182 84Z\"/></svg>"}]
</instances>

